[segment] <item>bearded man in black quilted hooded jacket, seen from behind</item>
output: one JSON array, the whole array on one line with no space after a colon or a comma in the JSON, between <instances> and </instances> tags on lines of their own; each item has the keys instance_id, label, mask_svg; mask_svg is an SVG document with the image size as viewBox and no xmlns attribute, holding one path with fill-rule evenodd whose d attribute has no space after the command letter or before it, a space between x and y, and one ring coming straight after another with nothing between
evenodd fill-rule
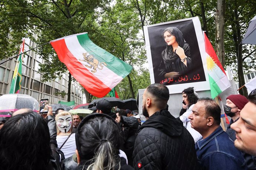
<instances>
[{"instance_id":1,"label":"bearded man in black quilted hooded jacket, seen from behind","mask_svg":"<svg viewBox=\"0 0 256 170\"><path fill-rule=\"evenodd\" d=\"M163 110L169 90L152 84L143 93L142 113L148 118L139 129L133 152L135 169L198 170L194 140L170 112Z\"/></svg>"}]
</instances>

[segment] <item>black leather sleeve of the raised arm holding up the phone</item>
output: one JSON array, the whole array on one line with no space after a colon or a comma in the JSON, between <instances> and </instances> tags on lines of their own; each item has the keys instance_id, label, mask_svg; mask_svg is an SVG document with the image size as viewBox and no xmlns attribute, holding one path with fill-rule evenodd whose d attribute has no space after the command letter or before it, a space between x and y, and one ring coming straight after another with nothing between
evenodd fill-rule
<instances>
[{"instance_id":1,"label":"black leather sleeve of the raised arm holding up the phone","mask_svg":"<svg viewBox=\"0 0 256 170\"><path fill-rule=\"evenodd\" d=\"M51 147L51 150L52 150L51 158L50 158L49 163L46 167L46 170L61 170L60 169L59 154L58 154L58 151L57 151L56 122L55 122L54 116L47 116L45 118L45 120L47 122L49 132L50 132L50 147Z\"/></svg>"}]
</instances>

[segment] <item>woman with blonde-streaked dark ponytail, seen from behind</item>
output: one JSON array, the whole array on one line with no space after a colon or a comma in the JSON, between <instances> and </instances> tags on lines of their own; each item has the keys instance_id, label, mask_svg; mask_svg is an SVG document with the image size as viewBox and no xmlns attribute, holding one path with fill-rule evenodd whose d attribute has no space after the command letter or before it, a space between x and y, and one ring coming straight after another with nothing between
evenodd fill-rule
<instances>
[{"instance_id":1,"label":"woman with blonde-streaked dark ponytail, seen from behind","mask_svg":"<svg viewBox=\"0 0 256 170\"><path fill-rule=\"evenodd\" d=\"M76 131L78 170L129 170L119 157L119 126L110 116L86 116Z\"/></svg>"}]
</instances>

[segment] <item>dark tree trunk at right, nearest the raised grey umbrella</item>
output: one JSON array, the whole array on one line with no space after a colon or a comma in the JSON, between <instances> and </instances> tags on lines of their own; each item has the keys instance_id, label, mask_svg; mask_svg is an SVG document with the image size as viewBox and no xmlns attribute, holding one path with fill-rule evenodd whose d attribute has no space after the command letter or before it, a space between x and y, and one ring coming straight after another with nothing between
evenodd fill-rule
<instances>
[{"instance_id":1,"label":"dark tree trunk at right, nearest the raised grey umbrella","mask_svg":"<svg viewBox=\"0 0 256 170\"><path fill-rule=\"evenodd\" d=\"M240 24L239 24L239 16L237 8L234 10L235 15L235 21L236 21L236 33L237 33L237 74L238 74L238 81L239 81L239 87L242 87L245 84L244 81L244 74L243 74L243 53L242 53L242 36L241 36L241 30L240 30ZM246 98L248 98L248 92L246 88L242 88L239 90L239 93Z\"/></svg>"}]
</instances>

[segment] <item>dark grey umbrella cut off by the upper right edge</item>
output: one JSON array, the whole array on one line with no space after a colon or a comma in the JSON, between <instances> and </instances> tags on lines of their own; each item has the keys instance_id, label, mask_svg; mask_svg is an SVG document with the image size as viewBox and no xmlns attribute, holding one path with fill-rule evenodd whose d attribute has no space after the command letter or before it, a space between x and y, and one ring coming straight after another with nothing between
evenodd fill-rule
<instances>
[{"instance_id":1,"label":"dark grey umbrella cut off by the upper right edge","mask_svg":"<svg viewBox=\"0 0 256 170\"><path fill-rule=\"evenodd\" d=\"M250 20L242 44L256 44L256 16Z\"/></svg>"}]
</instances>

